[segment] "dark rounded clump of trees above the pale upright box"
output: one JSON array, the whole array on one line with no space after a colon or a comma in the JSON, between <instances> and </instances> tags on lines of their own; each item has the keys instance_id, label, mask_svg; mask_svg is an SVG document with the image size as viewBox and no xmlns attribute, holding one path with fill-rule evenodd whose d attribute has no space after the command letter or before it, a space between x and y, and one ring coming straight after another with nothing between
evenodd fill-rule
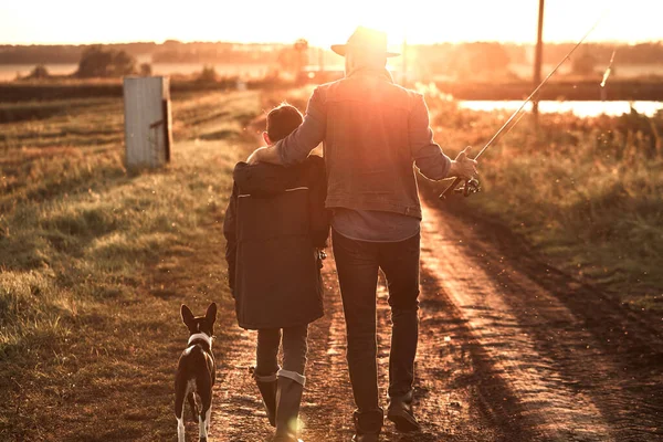
<instances>
[{"instance_id":1,"label":"dark rounded clump of trees above the pale upright box","mask_svg":"<svg viewBox=\"0 0 663 442\"><path fill-rule=\"evenodd\" d=\"M105 50L92 45L81 54L76 76L81 78L118 77L136 72L136 59L125 51Z\"/></svg>"}]
</instances>

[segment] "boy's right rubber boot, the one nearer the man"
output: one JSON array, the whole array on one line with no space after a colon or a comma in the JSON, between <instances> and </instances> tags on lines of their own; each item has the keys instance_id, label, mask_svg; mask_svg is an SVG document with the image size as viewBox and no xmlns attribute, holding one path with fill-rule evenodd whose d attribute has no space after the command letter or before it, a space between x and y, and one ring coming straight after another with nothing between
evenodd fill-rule
<instances>
[{"instance_id":1,"label":"boy's right rubber boot, the one nearer the man","mask_svg":"<svg viewBox=\"0 0 663 442\"><path fill-rule=\"evenodd\" d=\"M304 377L286 372L278 372L276 389L276 434L273 442L302 442L297 439L297 419L299 404L304 392ZM293 375L293 376L290 376ZM293 379L296 378L297 380Z\"/></svg>"}]
</instances>

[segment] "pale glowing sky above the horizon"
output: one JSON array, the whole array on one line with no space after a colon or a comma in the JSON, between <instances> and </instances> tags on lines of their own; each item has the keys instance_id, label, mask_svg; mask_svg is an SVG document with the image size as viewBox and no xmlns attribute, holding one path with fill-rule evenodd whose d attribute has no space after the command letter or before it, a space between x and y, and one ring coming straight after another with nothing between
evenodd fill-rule
<instances>
[{"instance_id":1,"label":"pale glowing sky above the horizon","mask_svg":"<svg viewBox=\"0 0 663 442\"><path fill-rule=\"evenodd\" d=\"M547 0L546 41L663 41L661 0ZM129 41L345 42L357 24L390 42L536 38L538 0L0 0L0 44Z\"/></svg>"}]
</instances>

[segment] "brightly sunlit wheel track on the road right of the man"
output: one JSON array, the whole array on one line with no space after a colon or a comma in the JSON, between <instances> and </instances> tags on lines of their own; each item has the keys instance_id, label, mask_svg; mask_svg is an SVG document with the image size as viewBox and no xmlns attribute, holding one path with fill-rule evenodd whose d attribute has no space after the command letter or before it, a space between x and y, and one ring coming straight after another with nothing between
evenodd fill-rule
<instances>
[{"instance_id":1,"label":"brightly sunlit wheel track on the road right of the man","mask_svg":"<svg viewBox=\"0 0 663 442\"><path fill-rule=\"evenodd\" d=\"M523 414L514 418L525 419L537 440L614 440L592 400L561 382L554 361L537 350L534 338L504 302L504 287L467 260L463 240L441 212L424 207L423 217L424 270L435 275L498 376L513 389L523 407ZM561 307L551 308L557 317L568 315ZM575 439L569 439L569 431Z\"/></svg>"}]
</instances>

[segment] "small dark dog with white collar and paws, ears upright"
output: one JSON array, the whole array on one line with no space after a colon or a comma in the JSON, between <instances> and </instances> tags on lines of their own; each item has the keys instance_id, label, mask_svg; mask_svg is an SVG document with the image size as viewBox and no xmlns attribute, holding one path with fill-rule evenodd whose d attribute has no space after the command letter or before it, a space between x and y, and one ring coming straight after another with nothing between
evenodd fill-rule
<instances>
[{"instance_id":1,"label":"small dark dog with white collar and paws, ears upright","mask_svg":"<svg viewBox=\"0 0 663 442\"><path fill-rule=\"evenodd\" d=\"M182 304L180 314L182 322L189 328L189 341L180 355L175 376L177 440L185 442L185 399L187 399L193 415L198 415L199 441L207 442L212 413L212 388L217 380L217 367L212 354L217 304L211 303L204 316L193 316L191 309ZM201 406L200 410L198 403Z\"/></svg>"}]
</instances>

